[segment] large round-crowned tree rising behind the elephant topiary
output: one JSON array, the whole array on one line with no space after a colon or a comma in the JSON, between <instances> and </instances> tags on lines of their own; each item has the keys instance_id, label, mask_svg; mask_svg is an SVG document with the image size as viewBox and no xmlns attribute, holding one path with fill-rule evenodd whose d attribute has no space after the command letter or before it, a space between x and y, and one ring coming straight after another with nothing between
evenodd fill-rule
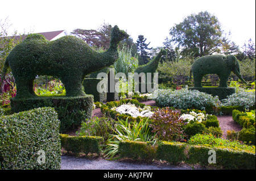
<instances>
[{"instance_id":1,"label":"large round-crowned tree rising behind the elephant topiary","mask_svg":"<svg viewBox=\"0 0 256 181\"><path fill-rule=\"evenodd\" d=\"M221 51L220 22L207 11L187 16L170 29L170 35L171 41L182 48L182 56L201 57Z\"/></svg>"}]
</instances>

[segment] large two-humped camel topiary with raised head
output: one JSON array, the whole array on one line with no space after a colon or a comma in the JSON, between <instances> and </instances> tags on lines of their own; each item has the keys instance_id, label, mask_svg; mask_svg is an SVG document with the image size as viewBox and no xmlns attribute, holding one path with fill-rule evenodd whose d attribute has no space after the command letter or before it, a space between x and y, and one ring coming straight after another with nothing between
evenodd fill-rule
<instances>
[{"instance_id":1,"label":"large two-humped camel topiary with raised head","mask_svg":"<svg viewBox=\"0 0 256 181\"><path fill-rule=\"evenodd\" d=\"M82 86L85 75L114 64L118 59L118 43L127 37L125 31L114 26L110 48L98 53L75 36L48 41L43 35L28 35L6 58L2 80L10 66L17 89L15 99L35 96L33 82L36 75L60 78L67 96L85 95Z\"/></svg>"}]
</instances>

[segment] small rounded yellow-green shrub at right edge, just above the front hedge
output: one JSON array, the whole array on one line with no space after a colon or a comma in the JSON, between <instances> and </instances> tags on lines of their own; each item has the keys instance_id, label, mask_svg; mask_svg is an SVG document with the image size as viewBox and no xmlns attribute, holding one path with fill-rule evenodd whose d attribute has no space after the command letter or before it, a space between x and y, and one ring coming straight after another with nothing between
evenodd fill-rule
<instances>
[{"instance_id":1,"label":"small rounded yellow-green shrub at right edge, just above the front hedge","mask_svg":"<svg viewBox=\"0 0 256 181\"><path fill-rule=\"evenodd\" d=\"M255 127L250 127L248 129L243 128L238 133L238 140L245 142L246 144L255 145Z\"/></svg>"}]
</instances>

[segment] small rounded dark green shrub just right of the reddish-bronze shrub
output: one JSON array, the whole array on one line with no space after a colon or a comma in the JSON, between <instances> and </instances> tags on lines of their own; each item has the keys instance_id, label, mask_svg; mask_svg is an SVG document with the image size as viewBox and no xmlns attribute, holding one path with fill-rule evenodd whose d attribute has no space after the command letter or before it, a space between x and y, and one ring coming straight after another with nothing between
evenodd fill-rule
<instances>
[{"instance_id":1,"label":"small rounded dark green shrub just right of the reddish-bronze shrub","mask_svg":"<svg viewBox=\"0 0 256 181\"><path fill-rule=\"evenodd\" d=\"M203 123L188 123L185 126L185 134L187 134L188 139L196 134L203 134L206 128Z\"/></svg>"}]
</instances>

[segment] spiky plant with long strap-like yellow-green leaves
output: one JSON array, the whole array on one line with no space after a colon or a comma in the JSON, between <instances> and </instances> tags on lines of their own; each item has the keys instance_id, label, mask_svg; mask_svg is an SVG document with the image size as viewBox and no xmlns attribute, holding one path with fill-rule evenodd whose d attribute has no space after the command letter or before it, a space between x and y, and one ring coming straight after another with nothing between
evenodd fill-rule
<instances>
[{"instance_id":1,"label":"spiky plant with long strap-like yellow-green leaves","mask_svg":"<svg viewBox=\"0 0 256 181\"><path fill-rule=\"evenodd\" d=\"M156 142L156 133L151 133L150 129L148 127L148 119L141 119L138 123L134 121L133 124L128 123L128 119L125 121L118 119L118 124L113 129L114 134L110 134L109 140L107 141L104 151L106 157L112 159L117 155L119 153L118 145L123 140L150 142L154 145Z\"/></svg>"}]
</instances>

